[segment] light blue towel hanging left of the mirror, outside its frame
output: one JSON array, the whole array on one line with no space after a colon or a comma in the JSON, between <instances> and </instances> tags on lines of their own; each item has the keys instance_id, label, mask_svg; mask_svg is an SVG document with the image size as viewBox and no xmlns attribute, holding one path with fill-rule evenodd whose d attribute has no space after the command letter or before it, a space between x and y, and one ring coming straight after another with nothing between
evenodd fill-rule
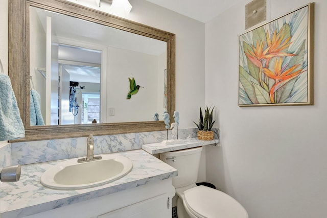
<instances>
[{"instance_id":1,"label":"light blue towel hanging left of the mirror, outside its frame","mask_svg":"<svg viewBox=\"0 0 327 218\"><path fill-rule=\"evenodd\" d=\"M25 129L10 78L0 74L0 141L24 137Z\"/></svg>"}]
</instances>

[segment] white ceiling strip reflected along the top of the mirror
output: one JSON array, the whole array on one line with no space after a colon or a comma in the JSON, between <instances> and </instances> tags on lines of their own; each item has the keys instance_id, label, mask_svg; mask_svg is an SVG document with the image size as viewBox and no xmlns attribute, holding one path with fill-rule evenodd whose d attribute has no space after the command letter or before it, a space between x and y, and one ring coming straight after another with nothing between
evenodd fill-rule
<instances>
[{"instance_id":1,"label":"white ceiling strip reflected along the top of the mirror","mask_svg":"<svg viewBox=\"0 0 327 218\"><path fill-rule=\"evenodd\" d=\"M166 43L162 43L156 39L119 29L108 28L103 25L94 25L90 21L76 19L46 10L37 10L37 13L44 30L46 29L45 16L53 17L52 27L56 31L56 35L61 38L74 38L76 41L87 41L89 43L102 44L149 55L161 55L167 50ZM65 25L63 26L62 23L65 23Z\"/></svg>"}]
</instances>

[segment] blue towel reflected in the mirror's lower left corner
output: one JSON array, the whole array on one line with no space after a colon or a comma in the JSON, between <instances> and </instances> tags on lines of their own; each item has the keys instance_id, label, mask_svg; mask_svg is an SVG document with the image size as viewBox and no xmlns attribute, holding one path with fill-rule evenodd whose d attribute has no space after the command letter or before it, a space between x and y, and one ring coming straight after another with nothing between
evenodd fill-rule
<instances>
[{"instance_id":1,"label":"blue towel reflected in the mirror's lower left corner","mask_svg":"<svg viewBox=\"0 0 327 218\"><path fill-rule=\"evenodd\" d=\"M43 126L44 120L41 114L41 98L36 90L30 91L30 120L31 126Z\"/></svg>"}]
</instances>

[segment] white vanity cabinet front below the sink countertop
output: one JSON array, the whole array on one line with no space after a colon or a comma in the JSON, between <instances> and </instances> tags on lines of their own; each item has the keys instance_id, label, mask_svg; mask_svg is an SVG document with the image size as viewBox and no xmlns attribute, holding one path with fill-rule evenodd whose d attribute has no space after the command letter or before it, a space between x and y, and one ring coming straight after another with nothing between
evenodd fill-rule
<instances>
[{"instance_id":1,"label":"white vanity cabinet front below the sink countertop","mask_svg":"<svg viewBox=\"0 0 327 218\"><path fill-rule=\"evenodd\" d=\"M172 216L171 199L172 181L168 178L24 217L168 218Z\"/></svg>"}]
</instances>

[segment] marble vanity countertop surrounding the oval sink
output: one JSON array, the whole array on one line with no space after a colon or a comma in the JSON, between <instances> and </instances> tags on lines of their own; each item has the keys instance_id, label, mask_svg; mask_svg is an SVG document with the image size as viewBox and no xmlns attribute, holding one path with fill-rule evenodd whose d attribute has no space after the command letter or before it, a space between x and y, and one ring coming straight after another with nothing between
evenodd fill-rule
<instances>
[{"instance_id":1,"label":"marble vanity countertop surrounding the oval sink","mask_svg":"<svg viewBox=\"0 0 327 218\"><path fill-rule=\"evenodd\" d=\"M143 150L115 154L130 158L132 171L111 183L80 190L55 190L41 185L42 173L59 161L23 165L18 182L0 182L0 217L22 217L30 211L34 214L51 210L177 176L175 168Z\"/></svg>"}]
</instances>

